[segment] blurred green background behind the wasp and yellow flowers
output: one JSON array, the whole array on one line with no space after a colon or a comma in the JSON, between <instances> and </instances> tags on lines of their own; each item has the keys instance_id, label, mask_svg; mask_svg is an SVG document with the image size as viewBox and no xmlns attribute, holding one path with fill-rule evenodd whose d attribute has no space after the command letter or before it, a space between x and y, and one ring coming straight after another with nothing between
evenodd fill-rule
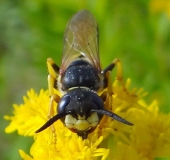
<instances>
[{"instance_id":1,"label":"blurred green background behind the wasp and yellow flowers","mask_svg":"<svg viewBox=\"0 0 170 160\"><path fill-rule=\"evenodd\" d=\"M12 104L23 102L30 88L47 89L46 59L59 65L68 19L87 9L99 25L102 66L114 58L123 64L124 78L132 87L157 98L160 110L170 111L169 0L1 0L0 1L0 159L21 159L32 138L6 135ZM169 8L168 8L169 7ZM113 72L113 77L115 71Z\"/></svg>"}]
</instances>

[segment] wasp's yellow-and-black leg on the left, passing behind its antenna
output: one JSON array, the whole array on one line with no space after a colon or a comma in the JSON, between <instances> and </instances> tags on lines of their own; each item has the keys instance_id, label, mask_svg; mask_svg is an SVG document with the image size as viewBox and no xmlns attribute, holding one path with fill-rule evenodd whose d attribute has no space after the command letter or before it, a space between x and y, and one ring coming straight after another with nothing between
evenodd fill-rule
<instances>
[{"instance_id":1,"label":"wasp's yellow-and-black leg on the left, passing behind its antenna","mask_svg":"<svg viewBox=\"0 0 170 160\"><path fill-rule=\"evenodd\" d=\"M57 94L54 94L54 89L56 86L57 77L59 74L59 67L54 63L51 58L47 59L47 68L48 68L48 90L50 96L50 103L49 103L49 110L48 110L48 119L54 116L54 102L58 103L60 97ZM55 134L55 127L51 125L51 130L54 135L54 141L56 142L56 134Z\"/></svg>"}]
</instances>

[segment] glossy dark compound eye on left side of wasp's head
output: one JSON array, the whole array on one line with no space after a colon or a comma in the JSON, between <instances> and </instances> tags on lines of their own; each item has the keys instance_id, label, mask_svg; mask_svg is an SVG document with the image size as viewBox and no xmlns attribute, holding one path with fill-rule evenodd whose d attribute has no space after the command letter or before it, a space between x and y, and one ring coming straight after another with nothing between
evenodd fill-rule
<instances>
[{"instance_id":1,"label":"glossy dark compound eye on left side of wasp's head","mask_svg":"<svg viewBox=\"0 0 170 160\"><path fill-rule=\"evenodd\" d=\"M63 98L61 98L60 102L58 103L58 114L64 113L66 106L70 103L70 96L65 95Z\"/></svg>"}]
</instances>

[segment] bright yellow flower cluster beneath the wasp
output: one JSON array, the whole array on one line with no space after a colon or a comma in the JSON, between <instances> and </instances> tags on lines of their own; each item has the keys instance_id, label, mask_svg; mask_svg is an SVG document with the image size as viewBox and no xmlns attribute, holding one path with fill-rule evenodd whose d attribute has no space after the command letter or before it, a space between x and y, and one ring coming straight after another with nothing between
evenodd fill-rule
<instances>
[{"instance_id":1,"label":"bright yellow flower cluster beneath the wasp","mask_svg":"<svg viewBox=\"0 0 170 160\"><path fill-rule=\"evenodd\" d=\"M56 137L51 128L35 134L47 121L49 96L33 89L24 96L24 103L14 105L13 116L5 132L15 130L19 135L34 137L30 155L20 150L24 160L154 160L170 158L170 115L159 112L157 101L145 103L142 89L130 89L130 79L125 86L119 80L113 83L112 112L132 122L122 124L104 116L88 139L82 140L67 129L62 122L54 123ZM107 105L107 104L106 104ZM56 104L57 106L57 104ZM106 106L107 108L107 106ZM56 139L56 141L55 141Z\"/></svg>"}]
</instances>

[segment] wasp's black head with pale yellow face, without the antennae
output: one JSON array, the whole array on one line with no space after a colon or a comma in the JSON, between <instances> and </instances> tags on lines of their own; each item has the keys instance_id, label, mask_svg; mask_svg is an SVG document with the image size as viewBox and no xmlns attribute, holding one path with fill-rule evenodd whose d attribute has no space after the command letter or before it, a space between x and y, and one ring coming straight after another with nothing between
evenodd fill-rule
<instances>
[{"instance_id":1,"label":"wasp's black head with pale yellow face, without the antennae","mask_svg":"<svg viewBox=\"0 0 170 160\"><path fill-rule=\"evenodd\" d=\"M66 114L62 122L83 138L87 138L103 116L93 109L104 109L104 103L96 93L85 88L70 90L58 104L58 113Z\"/></svg>"}]
</instances>

